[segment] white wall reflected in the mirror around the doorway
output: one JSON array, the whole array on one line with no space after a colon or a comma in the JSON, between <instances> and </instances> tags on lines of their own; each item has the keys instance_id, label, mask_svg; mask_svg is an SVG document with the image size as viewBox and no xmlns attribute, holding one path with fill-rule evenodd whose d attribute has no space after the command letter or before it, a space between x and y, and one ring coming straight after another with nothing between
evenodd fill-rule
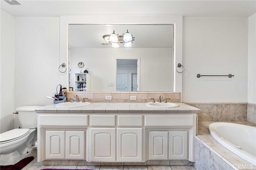
<instances>
[{"instance_id":1,"label":"white wall reflected in the mirror around the doorway","mask_svg":"<svg viewBox=\"0 0 256 170\"><path fill-rule=\"evenodd\" d=\"M91 74L91 91L114 90L108 83L116 85L116 58L140 58L140 91L173 91L172 49L72 48L70 56L71 76L80 73L77 63L84 62L84 69ZM74 82L74 78L70 80Z\"/></svg>"}]
</instances>

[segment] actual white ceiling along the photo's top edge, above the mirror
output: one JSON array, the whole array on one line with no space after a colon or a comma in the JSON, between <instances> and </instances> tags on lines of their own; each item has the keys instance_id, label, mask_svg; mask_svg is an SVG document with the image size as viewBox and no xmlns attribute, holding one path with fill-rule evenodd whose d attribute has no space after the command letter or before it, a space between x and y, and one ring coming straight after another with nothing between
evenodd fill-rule
<instances>
[{"instance_id":1,"label":"actual white ceiling along the photo's top edge, above the mirror","mask_svg":"<svg viewBox=\"0 0 256 170\"><path fill-rule=\"evenodd\" d=\"M12 16L182 15L248 17L256 0L18 0L22 5L0 7Z\"/></svg>"}]
</instances>

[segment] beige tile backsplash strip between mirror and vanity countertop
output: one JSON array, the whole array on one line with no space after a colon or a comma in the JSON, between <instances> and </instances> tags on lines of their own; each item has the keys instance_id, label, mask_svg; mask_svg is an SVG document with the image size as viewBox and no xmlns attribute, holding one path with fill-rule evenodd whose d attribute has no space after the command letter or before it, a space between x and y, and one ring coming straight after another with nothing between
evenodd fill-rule
<instances>
[{"instance_id":1,"label":"beige tile backsplash strip between mirror and vanity countertop","mask_svg":"<svg viewBox=\"0 0 256 170\"><path fill-rule=\"evenodd\" d=\"M70 98L73 100L76 99L74 97L75 95L78 95L80 101L83 100L83 98L88 98L86 101L88 102L150 102L152 101L151 98L154 98L155 101L158 101L158 97L162 95L162 100L166 98L170 98L167 101L168 102L174 102L178 103L180 102L180 93L177 92L79 92L79 91L71 91L68 92L68 101L70 101ZM106 96L112 96L112 100L106 100ZM130 96L136 96L136 100L130 100Z\"/></svg>"}]
</instances>

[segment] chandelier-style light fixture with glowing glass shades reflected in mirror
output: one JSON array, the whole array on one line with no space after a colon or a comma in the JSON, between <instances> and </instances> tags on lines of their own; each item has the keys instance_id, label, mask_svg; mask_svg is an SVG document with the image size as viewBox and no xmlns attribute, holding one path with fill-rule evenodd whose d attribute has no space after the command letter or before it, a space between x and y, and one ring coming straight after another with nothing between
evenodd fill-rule
<instances>
[{"instance_id":1,"label":"chandelier-style light fixture with glowing glass shades reflected in mirror","mask_svg":"<svg viewBox=\"0 0 256 170\"><path fill-rule=\"evenodd\" d=\"M135 37L128 30L122 35L115 34L114 30L111 35L104 35L103 38L106 42L111 43L113 48L118 48L120 43L124 44L124 47L131 47Z\"/></svg>"}]
</instances>

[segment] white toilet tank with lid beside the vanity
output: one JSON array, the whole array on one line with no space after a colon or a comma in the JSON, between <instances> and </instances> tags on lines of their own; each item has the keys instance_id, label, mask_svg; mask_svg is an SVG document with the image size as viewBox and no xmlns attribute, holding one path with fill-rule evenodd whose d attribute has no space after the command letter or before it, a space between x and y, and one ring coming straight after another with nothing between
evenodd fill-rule
<instances>
[{"instance_id":1,"label":"white toilet tank with lid beside the vanity","mask_svg":"<svg viewBox=\"0 0 256 170\"><path fill-rule=\"evenodd\" d=\"M37 128L36 109L42 106L21 106L16 109L20 128Z\"/></svg>"}]
</instances>

